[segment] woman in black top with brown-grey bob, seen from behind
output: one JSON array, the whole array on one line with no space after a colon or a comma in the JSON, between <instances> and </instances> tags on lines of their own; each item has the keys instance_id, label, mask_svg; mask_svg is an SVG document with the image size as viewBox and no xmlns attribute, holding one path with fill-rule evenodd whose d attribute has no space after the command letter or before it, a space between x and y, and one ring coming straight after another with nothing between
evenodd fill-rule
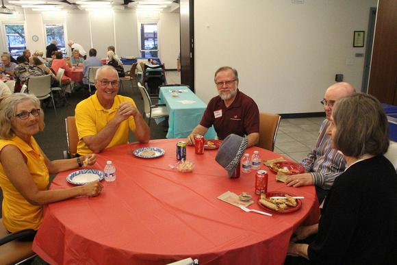
<instances>
[{"instance_id":1,"label":"woman in black top with brown-grey bob, seen from behind","mask_svg":"<svg viewBox=\"0 0 397 265\"><path fill-rule=\"evenodd\" d=\"M397 174L383 156L389 147L385 110L375 97L348 94L335 102L330 120L326 134L348 167L326 196L319 223L294 232L287 255L301 257L287 257L285 264L394 264Z\"/></svg>"}]
</instances>

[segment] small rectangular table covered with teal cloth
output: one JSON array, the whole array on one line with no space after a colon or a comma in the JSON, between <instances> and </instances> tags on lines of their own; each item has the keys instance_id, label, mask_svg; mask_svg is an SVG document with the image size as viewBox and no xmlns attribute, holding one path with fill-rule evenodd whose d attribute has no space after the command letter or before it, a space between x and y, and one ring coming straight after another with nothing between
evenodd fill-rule
<instances>
[{"instance_id":1,"label":"small rectangular table covered with teal cloth","mask_svg":"<svg viewBox=\"0 0 397 265\"><path fill-rule=\"evenodd\" d=\"M170 90L182 90L178 97L172 97ZM207 104L196 96L187 86L164 86L160 88L159 103L167 105L168 113L168 134L167 138L187 138L192 130L199 125ZM195 101L190 104L183 104L178 101ZM214 139L216 131L210 127L205 134L205 139Z\"/></svg>"}]
</instances>

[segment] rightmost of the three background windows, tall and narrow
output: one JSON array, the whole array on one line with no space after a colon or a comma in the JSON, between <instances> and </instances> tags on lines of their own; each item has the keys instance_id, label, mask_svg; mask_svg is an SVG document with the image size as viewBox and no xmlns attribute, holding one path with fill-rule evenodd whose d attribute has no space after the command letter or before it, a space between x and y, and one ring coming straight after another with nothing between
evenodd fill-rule
<instances>
[{"instance_id":1,"label":"rightmost of the three background windows, tall and narrow","mask_svg":"<svg viewBox=\"0 0 397 265\"><path fill-rule=\"evenodd\" d=\"M141 24L140 51L143 58L158 57L157 24Z\"/></svg>"}]
</instances>

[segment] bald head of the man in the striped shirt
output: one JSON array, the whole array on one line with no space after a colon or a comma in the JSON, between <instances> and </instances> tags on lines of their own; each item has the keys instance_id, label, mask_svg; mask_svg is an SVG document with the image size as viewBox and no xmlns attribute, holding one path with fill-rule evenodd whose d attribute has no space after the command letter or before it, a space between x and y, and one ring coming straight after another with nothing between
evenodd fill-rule
<instances>
[{"instance_id":1,"label":"bald head of the man in the striped shirt","mask_svg":"<svg viewBox=\"0 0 397 265\"><path fill-rule=\"evenodd\" d=\"M346 82L340 82L330 86L325 92L323 101L326 118L331 118L333 103L335 103L335 101L341 97L344 97L348 94L353 94L355 92L355 88Z\"/></svg>"}]
</instances>

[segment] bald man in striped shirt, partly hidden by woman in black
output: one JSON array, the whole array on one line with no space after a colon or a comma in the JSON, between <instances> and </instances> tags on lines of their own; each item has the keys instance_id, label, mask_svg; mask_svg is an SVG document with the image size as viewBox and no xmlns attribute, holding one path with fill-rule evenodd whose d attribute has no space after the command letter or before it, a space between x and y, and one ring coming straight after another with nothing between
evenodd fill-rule
<instances>
[{"instance_id":1,"label":"bald man in striped shirt, partly hidden by woman in black","mask_svg":"<svg viewBox=\"0 0 397 265\"><path fill-rule=\"evenodd\" d=\"M337 99L354 92L353 86L345 82L333 84L326 90L324 99L321 101L324 105L326 119L322 122L318 132L316 147L300 163L307 173L292 175L285 180L287 186L315 185L320 204L324 201L335 178L342 174L346 168L344 156L331 147L331 138L326 134L326 130L331 125L329 120L333 104Z\"/></svg>"}]
</instances>

